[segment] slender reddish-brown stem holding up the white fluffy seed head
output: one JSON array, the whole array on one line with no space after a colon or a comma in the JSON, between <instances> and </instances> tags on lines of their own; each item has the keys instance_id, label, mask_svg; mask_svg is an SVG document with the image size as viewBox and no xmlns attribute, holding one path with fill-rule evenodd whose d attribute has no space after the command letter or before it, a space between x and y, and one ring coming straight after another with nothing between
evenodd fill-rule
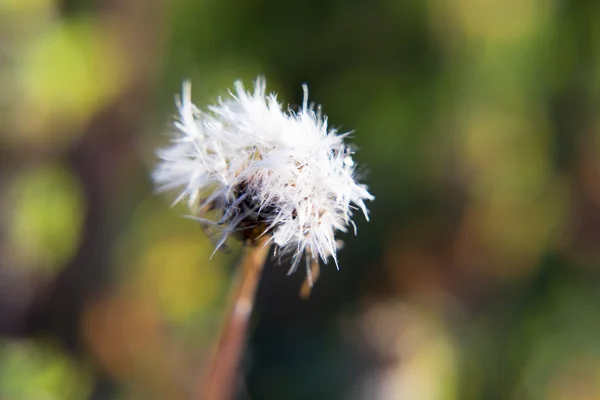
<instances>
[{"instance_id":1,"label":"slender reddish-brown stem holding up the white fluffy seed head","mask_svg":"<svg viewBox=\"0 0 600 400\"><path fill-rule=\"evenodd\" d=\"M232 303L225 317L216 353L209 367L208 381L200 390L198 400L230 400L237 387L248 322L254 306L254 295L263 266L269 254L268 235L248 245L240 261L238 277L232 292Z\"/></svg>"}]
</instances>

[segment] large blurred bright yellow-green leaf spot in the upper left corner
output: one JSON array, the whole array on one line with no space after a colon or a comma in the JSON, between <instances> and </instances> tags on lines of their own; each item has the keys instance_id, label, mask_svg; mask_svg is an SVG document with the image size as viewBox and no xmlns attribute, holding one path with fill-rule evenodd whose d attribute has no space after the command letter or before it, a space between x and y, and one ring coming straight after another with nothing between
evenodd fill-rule
<instances>
[{"instance_id":1,"label":"large blurred bright yellow-green leaf spot in the upper left corner","mask_svg":"<svg viewBox=\"0 0 600 400\"><path fill-rule=\"evenodd\" d=\"M72 19L46 27L27 42L15 67L20 107L16 141L33 145L68 141L125 82L127 71L110 25Z\"/></svg>"}]
</instances>

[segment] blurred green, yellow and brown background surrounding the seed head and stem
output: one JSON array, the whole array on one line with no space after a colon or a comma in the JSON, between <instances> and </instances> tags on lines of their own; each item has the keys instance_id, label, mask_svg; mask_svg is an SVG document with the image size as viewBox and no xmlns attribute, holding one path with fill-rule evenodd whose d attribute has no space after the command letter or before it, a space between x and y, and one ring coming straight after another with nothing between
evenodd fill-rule
<instances>
[{"instance_id":1,"label":"blurred green, yellow and brown background surrounding the seed head and stem","mask_svg":"<svg viewBox=\"0 0 600 400\"><path fill-rule=\"evenodd\" d=\"M600 2L0 0L0 399L187 399L239 247L153 193L182 80L353 130L371 222L268 265L239 399L600 399Z\"/></svg>"}]
</instances>

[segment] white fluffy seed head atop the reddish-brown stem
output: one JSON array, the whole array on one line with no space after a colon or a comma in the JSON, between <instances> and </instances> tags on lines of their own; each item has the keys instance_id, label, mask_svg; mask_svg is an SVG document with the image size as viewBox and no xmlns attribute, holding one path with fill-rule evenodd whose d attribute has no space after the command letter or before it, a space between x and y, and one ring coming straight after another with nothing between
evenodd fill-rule
<instances>
[{"instance_id":1,"label":"white fluffy seed head atop the reddish-brown stem","mask_svg":"<svg viewBox=\"0 0 600 400\"><path fill-rule=\"evenodd\" d=\"M180 190L175 202L187 199L191 218L220 232L217 249L231 235L268 233L276 253L292 255L290 272L304 254L337 264L335 232L354 226L356 208L368 218L373 199L355 180L347 134L328 128L303 89L294 112L266 94L263 78L253 92L237 81L231 97L201 111L184 83L175 136L153 173L159 190Z\"/></svg>"}]
</instances>

